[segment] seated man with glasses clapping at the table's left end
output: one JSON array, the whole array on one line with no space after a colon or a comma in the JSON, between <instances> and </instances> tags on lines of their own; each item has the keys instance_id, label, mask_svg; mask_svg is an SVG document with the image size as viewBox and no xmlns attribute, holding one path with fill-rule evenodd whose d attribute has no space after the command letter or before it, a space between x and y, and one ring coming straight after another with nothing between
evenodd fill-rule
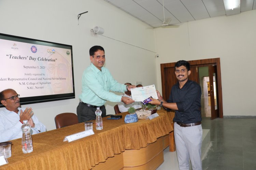
<instances>
[{"instance_id":1,"label":"seated man with glasses clapping at the table's left end","mask_svg":"<svg viewBox=\"0 0 256 170\"><path fill-rule=\"evenodd\" d=\"M0 111L0 142L22 137L23 120L28 120L31 135L45 132L46 128L34 115L32 108L20 108L19 95L13 89L0 92L0 101L5 108Z\"/></svg>"}]
</instances>

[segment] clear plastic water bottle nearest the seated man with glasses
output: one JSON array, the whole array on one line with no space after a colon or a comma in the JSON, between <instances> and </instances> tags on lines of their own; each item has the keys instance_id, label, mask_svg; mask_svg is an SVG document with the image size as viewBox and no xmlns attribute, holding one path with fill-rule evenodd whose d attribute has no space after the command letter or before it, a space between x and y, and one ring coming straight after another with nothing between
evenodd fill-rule
<instances>
[{"instance_id":1,"label":"clear plastic water bottle nearest the seated man with glasses","mask_svg":"<svg viewBox=\"0 0 256 170\"><path fill-rule=\"evenodd\" d=\"M30 125L28 120L23 120L22 125L22 151L23 153L30 153L33 151L33 143L30 134Z\"/></svg>"}]
</instances>

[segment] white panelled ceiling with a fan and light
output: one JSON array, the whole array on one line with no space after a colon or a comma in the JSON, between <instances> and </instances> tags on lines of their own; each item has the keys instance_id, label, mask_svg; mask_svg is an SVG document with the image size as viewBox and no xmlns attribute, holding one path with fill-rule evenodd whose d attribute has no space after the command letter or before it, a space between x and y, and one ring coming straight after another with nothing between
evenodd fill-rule
<instances>
[{"instance_id":1,"label":"white panelled ceiling with a fan and light","mask_svg":"<svg viewBox=\"0 0 256 170\"><path fill-rule=\"evenodd\" d=\"M179 24L222 15L240 14L256 9L256 0L241 0L240 10L225 10L223 0L105 0L128 14L138 18L151 27L158 27L165 19L170 24Z\"/></svg>"}]
</instances>

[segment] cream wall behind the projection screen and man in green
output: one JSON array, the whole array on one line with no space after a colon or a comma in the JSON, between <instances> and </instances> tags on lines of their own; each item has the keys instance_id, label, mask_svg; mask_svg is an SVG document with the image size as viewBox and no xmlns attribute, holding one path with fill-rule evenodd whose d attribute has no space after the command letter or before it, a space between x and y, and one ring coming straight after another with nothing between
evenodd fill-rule
<instances>
[{"instance_id":1,"label":"cream wall behind the projection screen and man in green","mask_svg":"<svg viewBox=\"0 0 256 170\"><path fill-rule=\"evenodd\" d=\"M86 11L89 12L81 15L78 24L77 15ZM47 130L56 128L57 114L76 113L82 73L90 64L89 48L94 45L105 49L105 67L119 83L142 81L143 85L151 85L156 82L154 31L146 30L146 24L103 0L1 0L0 23L0 33L73 46L76 98L23 105L32 107ZM95 26L104 28L104 36L141 48L94 36L90 30ZM107 102L107 114L114 114L115 104Z\"/></svg>"}]
</instances>

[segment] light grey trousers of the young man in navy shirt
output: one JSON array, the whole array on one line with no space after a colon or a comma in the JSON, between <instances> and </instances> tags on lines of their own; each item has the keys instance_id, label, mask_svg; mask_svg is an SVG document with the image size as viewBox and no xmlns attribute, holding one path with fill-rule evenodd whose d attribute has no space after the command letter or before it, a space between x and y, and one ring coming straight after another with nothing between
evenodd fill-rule
<instances>
[{"instance_id":1,"label":"light grey trousers of the young man in navy shirt","mask_svg":"<svg viewBox=\"0 0 256 170\"><path fill-rule=\"evenodd\" d=\"M202 170L202 135L201 124L181 127L174 123L174 139L180 170L189 170L189 159L193 170Z\"/></svg>"}]
</instances>

